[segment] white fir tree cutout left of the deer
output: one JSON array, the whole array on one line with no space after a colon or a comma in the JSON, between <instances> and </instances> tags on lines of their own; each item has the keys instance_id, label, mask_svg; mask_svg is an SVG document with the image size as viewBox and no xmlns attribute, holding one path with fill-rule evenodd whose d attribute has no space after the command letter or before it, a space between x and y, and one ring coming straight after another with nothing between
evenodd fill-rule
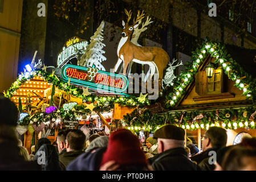
<instances>
[{"instance_id":1,"label":"white fir tree cutout left of the deer","mask_svg":"<svg viewBox=\"0 0 256 182\"><path fill-rule=\"evenodd\" d=\"M103 54L103 47L105 44L102 43L104 40L103 38L103 30L104 30L104 21L100 23L100 26L97 28L94 36L91 37L91 43L88 44L86 47L86 52L81 57L80 61L78 62L82 67L92 67L95 65L95 68L105 71L105 68L101 64L103 61L107 60Z\"/></svg>"}]
</instances>

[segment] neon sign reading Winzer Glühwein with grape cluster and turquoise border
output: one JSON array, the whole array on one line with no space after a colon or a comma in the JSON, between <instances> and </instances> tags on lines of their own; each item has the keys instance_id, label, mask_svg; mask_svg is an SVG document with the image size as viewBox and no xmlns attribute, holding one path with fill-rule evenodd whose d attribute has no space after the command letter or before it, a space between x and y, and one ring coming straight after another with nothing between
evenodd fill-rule
<instances>
[{"instance_id":1,"label":"neon sign reading Winzer Gl\u00fchwein with grape cluster and turquoise border","mask_svg":"<svg viewBox=\"0 0 256 182\"><path fill-rule=\"evenodd\" d=\"M124 92L128 87L128 79L124 75L99 71L96 68L66 65L62 68L62 77L70 83L88 86L109 92Z\"/></svg>"}]
</instances>

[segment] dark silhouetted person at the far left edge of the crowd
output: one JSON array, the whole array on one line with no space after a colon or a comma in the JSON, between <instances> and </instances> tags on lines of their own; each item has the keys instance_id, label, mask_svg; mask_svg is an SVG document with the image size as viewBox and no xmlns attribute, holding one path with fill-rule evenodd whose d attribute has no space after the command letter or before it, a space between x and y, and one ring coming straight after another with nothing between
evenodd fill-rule
<instances>
[{"instance_id":1,"label":"dark silhouetted person at the far left edge of the crowd","mask_svg":"<svg viewBox=\"0 0 256 182\"><path fill-rule=\"evenodd\" d=\"M8 98L0 96L0 171L39 171L36 162L27 162L19 155L18 109Z\"/></svg>"}]
</instances>

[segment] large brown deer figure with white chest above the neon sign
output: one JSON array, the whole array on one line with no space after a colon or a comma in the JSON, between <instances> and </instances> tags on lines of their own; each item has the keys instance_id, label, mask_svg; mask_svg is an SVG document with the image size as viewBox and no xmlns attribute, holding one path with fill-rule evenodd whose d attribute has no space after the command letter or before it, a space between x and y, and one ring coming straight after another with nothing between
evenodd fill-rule
<instances>
[{"instance_id":1,"label":"large brown deer figure with white chest above the neon sign","mask_svg":"<svg viewBox=\"0 0 256 182\"><path fill-rule=\"evenodd\" d=\"M119 68L120 64L123 63L123 74L127 75L127 68L130 63L135 62L139 64L148 64L149 71L146 74L144 81L148 80L155 74L158 73L158 78L161 80L163 77L163 72L168 64L170 58L167 52L160 47L142 47L137 46L131 42L131 36L135 28L139 26L138 22L144 18L143 14L140 15L140 11L137 14L137 19L133 21L133 25L129 26L129 20L131 19L131 11L125 10L125 13L128 15L127 23L123 21L123 32L122 38L119 42L117 48L117 56L118 60L114 67L114 71L116 72Z\"/></svg>"}]
</instances>

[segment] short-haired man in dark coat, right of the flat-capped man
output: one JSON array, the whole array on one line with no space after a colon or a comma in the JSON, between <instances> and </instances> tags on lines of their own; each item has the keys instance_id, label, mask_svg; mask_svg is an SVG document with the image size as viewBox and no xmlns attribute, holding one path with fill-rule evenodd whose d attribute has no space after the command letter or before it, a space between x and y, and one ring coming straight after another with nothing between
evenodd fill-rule
<instances>
[{"instance_id":1,"label":"short-haired man in dark coat, right of the flat-capped man","mask_svg":"<svg viewBox=\"0 0 256 182\"><path fill-rule=\"evenodd\" d=\"M213 171L215 164L210 159L227 143L226 130L221 127L210 127L202 137L202 153L194 155L191 160L196 162L204 171Z\"/></svg>"}]
</instances>

